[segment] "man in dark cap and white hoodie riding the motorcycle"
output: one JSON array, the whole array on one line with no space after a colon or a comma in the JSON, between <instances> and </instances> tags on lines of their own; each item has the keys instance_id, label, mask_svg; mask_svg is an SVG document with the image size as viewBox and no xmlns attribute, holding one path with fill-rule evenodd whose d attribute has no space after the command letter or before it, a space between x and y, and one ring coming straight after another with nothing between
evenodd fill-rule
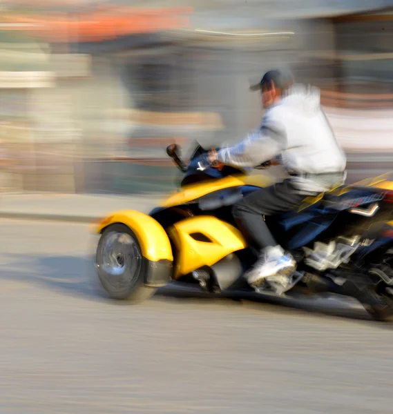
<instances>
[{"instance_id":1,"label":"man in dark cap and white hoodie riding the motorcycle","mask_svg":"<svg viewBox=\"0 0 393 414\"><path fill-rule=\"evenodd\" d=\"M293 210L308 195L343 184L346 159L320 108L318 89L294 83L285 70L269 70L250 89L261 92L266 109L262 124L236 146L211 150L209 159L219 168L249 168L276 159L289 173L288 179L243 197L233 208L240 230L259 256L245 275L247 282L271 282L276 293L283 293L291 287L296 262L271 235L264 215Z\"/></svg>"}]
</instances>

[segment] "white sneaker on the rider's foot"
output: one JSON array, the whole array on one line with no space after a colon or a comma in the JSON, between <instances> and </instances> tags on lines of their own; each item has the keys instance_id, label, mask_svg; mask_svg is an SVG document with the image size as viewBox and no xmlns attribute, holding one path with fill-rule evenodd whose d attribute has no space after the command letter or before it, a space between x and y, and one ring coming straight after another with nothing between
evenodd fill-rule
<instances>
[{"instance_id":1,"label":"white sneaker on the rider's foot","mask_svg":"<svg viewBox=\"0 0 393 414\"><path fill-rule=\"evenodd\" d=\"M265 281L280 293L291 283L291 275L296 270L294 258L285 254L280 246L268 247L245 277L251 286L260 286Z\"/></svg>"}]
</instances>

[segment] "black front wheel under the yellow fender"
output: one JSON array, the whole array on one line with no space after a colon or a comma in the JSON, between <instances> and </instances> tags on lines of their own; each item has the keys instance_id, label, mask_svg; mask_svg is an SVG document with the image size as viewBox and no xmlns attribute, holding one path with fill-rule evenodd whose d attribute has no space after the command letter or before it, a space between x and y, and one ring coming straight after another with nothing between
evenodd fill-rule
<instances>
[{"instance_id":1,"label":"black front wheel under the yellow fender","mask_svg":"<svg viewBox=\"0 0 393 414\"><path fill-rule=\"evenodd\" d=\"M113 244L108 246L111 242ZM142 257L137 237L124 224L111 224L102 232L95 266L102 287L112 299L140 303L153 296L157 290L144 286L146 261Z\"/></svg>"}]
</instances>

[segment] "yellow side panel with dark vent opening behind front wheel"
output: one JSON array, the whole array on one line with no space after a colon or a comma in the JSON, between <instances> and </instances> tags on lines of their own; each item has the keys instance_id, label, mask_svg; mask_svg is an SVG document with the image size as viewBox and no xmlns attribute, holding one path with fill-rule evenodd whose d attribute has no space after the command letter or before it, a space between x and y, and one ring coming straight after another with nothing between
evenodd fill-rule
<instances>
[{"instance_id":1,"label":"yellow side panel with dark vent opening behind front wheel","mask_svg":"<svg viewBox=\"0 0 393 414\"><path fill-rule=\"evenodd\" d=\"M201 233L210 242L198 241ZM175 279L202 266L211 266L230 253L247 247L237 228L211 216L179 221L169 230L169 234L178 252Z\"/></svg>"}]
</instances>

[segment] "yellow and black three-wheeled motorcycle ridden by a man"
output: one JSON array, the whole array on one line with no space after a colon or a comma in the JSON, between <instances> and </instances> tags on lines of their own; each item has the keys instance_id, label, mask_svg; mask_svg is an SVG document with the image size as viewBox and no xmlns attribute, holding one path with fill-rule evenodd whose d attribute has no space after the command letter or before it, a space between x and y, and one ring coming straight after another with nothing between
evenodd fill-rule
<instances>
[{"instance_id":1,"label":"yellow and black three-wheeled motorcycle ridden by a man","mask_svg":"<svg viewBox=\"0 0 393 414\"><path fill-rule=\"evenodd\" d=\"M133 302L171 281L199 284L211 293L253 289L242 275L256 257L231 208L271 179L229 166L214 168L199 145L187 165L175 144L167 153L184 173L180 190L149 215L122 210L97 226L95 265L102 286L110 297ZM347 295L377 319L388 319L393 314L392 190L392 181L378 177L266 217L298 264L286 295ZM272 287L265 282L254 289L269 293Z\"/></svg>"}]
</instances>

